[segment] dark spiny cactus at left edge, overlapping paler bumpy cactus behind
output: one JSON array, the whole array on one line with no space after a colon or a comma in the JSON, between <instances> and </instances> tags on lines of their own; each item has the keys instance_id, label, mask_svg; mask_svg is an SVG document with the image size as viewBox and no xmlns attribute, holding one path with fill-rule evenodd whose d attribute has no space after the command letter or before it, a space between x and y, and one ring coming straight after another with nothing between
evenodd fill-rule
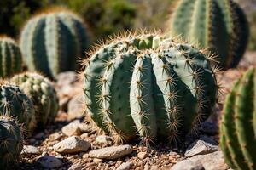
<instances>
[{"instance_id":1,"label":"dark spiny cactus at left edge, overlapping paler bumpy cactus behind","mask_svg":"<svg viewBox=\"0 0 256 170\"><path fill-rule=\"evenodd\" d=\"M32 131L35 126L32 100L18 86L8 82L0 82L0 94L0 115L13 116Z\"/></svg>"}]
</instances>

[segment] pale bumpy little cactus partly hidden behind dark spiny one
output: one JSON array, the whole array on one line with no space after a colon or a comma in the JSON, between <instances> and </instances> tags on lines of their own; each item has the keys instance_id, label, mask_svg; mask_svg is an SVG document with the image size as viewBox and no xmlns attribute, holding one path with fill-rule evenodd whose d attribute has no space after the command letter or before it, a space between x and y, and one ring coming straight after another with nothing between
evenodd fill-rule
<instances>
[{"instance_id":1,"label":"pale bumpy little cactus partly hidden behind dark spiny one","mask_svg":"<svg viewBox=\"0 0 256 170\"><path fill-rule=\"evenodd\" d=\"M59 109L59 99L48 78L35 72L25 72L15 75L10 81L32 99L38 128L54 121Z\"/></svg>"}]
</instances>

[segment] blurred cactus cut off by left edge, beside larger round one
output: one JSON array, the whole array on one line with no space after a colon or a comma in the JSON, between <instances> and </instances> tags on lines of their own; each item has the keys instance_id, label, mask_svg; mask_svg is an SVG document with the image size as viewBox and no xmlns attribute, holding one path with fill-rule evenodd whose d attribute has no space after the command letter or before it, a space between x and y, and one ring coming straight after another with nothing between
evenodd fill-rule
<instances>
[{"instance_id":1,"label":"blurred cactus cut off by left edge, beside larger round one","mask_svg":"<svg viewBox=\"0 0 256 170\"><path fill-rule=\"evenodd\" d=\"M19 46L9 37L0 37L0 77L11 77L22 69Z\"/></svg>"}]
</instances>

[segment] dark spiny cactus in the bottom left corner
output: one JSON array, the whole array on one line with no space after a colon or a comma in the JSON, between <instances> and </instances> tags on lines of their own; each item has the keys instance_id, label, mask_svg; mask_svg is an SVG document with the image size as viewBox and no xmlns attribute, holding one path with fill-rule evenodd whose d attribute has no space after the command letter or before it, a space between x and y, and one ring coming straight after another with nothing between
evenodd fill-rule
<instances>
[{"instance_id":1,"label":"dark spiny cactus in the bottom left corner","mask_svg":"<svg viewBox=\"0 0 256 170\"><path fill-rule=\"evenodd\" d=\"M19 161L23 148L23 132L17 121L0 116L0 168L10 169Z\"/></svg>"}]
</instances>

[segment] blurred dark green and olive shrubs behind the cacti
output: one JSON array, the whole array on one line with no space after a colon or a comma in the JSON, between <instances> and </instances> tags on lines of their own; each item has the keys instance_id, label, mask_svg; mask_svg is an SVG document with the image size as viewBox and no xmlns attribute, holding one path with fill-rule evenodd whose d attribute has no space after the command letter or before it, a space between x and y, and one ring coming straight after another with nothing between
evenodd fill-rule
<instances>
[{"instance_id":1,"label":"blurred dark green and olive shrubs behind the cacti","mask_svg":"<svg viewBox=\"0 0 256 170\"><path fill-rule=\"evenodd\" d=\"M251 36L249 50L256 50L256 0L236 0L247 13ZM165 29L177 0L0 0L0 34L18 38L20 28L38 10L64 6L87 23L92 42L119 31L136 28Z\"/></svg>"}]
</instances>

